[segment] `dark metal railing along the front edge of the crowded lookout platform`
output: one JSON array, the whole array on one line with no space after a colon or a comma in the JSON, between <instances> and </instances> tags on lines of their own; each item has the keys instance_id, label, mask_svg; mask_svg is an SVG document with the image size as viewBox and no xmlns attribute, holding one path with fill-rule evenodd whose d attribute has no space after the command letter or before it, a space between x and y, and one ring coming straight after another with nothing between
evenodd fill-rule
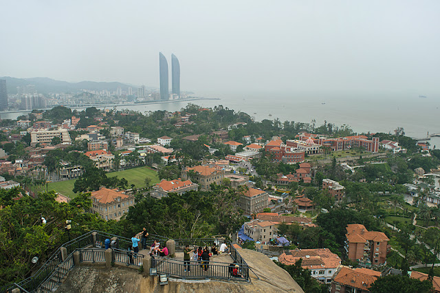
<instances>
[{"instance_id":1,"label":"dark metal railing along the front edge of the crowded lookout platform","mask_svg":"<svg viewBox=\"0 0 440 293\"><path fill-rule=\"evenodd\" d=\"M156 268L158 274L177 279L219 279L250 282L249 268L246 264L238 264L239 274L233 276L232 270L236 263L217 263L209 261L178 261L165 257L151 259L151 267Z\"/></svg>"}]
</instances>

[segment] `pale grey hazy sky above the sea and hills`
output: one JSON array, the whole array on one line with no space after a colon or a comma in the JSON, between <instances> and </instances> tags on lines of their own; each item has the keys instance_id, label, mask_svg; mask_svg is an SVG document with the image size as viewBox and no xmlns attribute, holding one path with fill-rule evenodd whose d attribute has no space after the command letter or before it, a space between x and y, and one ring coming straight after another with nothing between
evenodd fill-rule
<instances>
[{"instance_id":1,"label":"pale grey hazy sky above the sea and hills","mask_svg":"<svg viewBox=\"0 0 440 293\"><path fill-rule=\"evenodd\" d=\"M0 76L440 94L440 1L3 1Z\"/></svg>"}]
</instances>

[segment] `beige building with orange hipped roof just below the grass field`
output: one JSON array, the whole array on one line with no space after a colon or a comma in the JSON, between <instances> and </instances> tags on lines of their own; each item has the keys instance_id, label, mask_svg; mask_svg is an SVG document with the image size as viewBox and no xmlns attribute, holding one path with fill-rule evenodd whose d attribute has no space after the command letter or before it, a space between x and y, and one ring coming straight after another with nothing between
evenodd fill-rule
<instances>
[{"instance_id":1,"label":"beige building with orange hipped roof just below the grass field","mask_svg":"<svg viewBox=\"0 0 440 293\"><path fill-rule=\"evenodd\" d=\"M99 214L102 219L118 221L135 205L135 197L118 189L100 188L91 193L91 213Z\"/></svg>"}]
</instances>

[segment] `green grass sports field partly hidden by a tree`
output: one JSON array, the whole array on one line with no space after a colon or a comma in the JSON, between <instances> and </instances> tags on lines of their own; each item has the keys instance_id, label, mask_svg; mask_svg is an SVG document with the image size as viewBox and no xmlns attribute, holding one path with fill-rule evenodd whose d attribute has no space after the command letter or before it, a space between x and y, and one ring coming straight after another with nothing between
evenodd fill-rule
<instances>
[{"instance_id":1,"label":"green grass sports field partly hidden by a tree","mask_svg":"<svg viewBox=\"0 0 440 293\"><path fill-rule=\"evenodd\" d=\"M159 182L157 172L146 167L138 167L124 171L107 173L107 177L118 176L118 178L125 178L131 184L135 184L136 188L145 187L145 178L151 179L151 184ZM51 182L47 187L50 191L56 191L70 198L75 198L76 194L72 191L76 180L66 180L61 182Z\"/></svg>"}]
</instances>

